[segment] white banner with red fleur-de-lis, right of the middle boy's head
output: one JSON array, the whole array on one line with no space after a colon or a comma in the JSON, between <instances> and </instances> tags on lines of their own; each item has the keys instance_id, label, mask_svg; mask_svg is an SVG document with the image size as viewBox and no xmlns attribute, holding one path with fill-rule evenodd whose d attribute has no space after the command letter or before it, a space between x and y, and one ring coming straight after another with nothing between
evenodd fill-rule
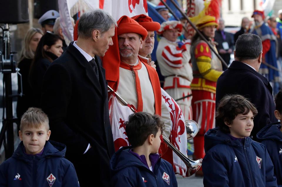
<instances>
[{"instance_id":1,"label":"white banner with red fleur-de-lis, right of the middle boy's head","mask_svg":"<svg viewBox=\"0 0 282 187\"><path fill-rule=\"evenodd\" d=\"M187 133L185 126L185 119L179 105L168 95L166 91L161 88L162 99L170 113L170 143L175 146L182 154L187 156ZM187 166L184 162L172 152L173 155L173 169L174 173L185 176L187 171Z\"/></svg>"}]
</instances>

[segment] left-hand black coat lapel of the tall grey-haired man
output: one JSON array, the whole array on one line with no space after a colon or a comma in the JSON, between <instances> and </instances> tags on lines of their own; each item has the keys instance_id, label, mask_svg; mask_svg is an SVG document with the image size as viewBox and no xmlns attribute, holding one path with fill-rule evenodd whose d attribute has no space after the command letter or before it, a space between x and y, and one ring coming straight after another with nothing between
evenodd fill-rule
<instances>
[{"instance_id":1,"label":"left-hand black coat lapel of the tall grey-haired man","mask_svg":"<svg viewBox=\"0 0 282 187\"><path fill-rule=\"evenodd\" d=\"M73 46L73 42L70 43L70 45L67 48L67 51L76 58L76 60L79 62L80 65L82 65L85 68L86 75L89 78L90 82L94 85L97 92L99 92L101 95L103 95L100 83L91 67L89 62L86 60L86 58L79 52L75 46ZM100 74L100 73L99 73Z\"/></svg>"}]
</instances>

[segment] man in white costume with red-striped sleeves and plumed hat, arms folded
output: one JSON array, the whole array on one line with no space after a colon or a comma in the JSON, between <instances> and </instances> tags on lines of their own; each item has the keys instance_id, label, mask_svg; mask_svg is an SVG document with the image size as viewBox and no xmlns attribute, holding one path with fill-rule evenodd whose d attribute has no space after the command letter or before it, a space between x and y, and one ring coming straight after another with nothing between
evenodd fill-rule
<instances>
[{"instance_id":1,"label":"man in white costume with red-striped sleeves and plumed hat, arms folded","mask_svg":"<svg viewBox=\"0 0 282 187\"><path fill-rule=\"evenodd\" d=\"M180 21L166 21L157 33L162 37L157 47L157 61L164 79L164 90L174 100L192 94L193 79L189 41L177 42L182 31ZM192 96L177 101L185 120L192 119Z\"/></svg>"}]
</instances>

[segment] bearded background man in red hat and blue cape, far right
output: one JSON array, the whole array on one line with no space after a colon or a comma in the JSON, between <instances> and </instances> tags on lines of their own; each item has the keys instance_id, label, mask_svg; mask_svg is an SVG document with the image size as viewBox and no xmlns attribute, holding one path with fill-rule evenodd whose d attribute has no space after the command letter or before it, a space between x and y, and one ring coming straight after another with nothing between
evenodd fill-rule
<instances>
[{"instance_id":1,"label":"bearded background man in red hat and blue cape, far right","mask_svg":"<svg viewBox=\"0 0 282 187\"><path fill-rule=\"evenodd\" d=\"M276 37L271 29L264 22L264 12L255 10L252 18L254 18L255 26L250 33L256 34L261 38L262 42L262 63L259 68L259 73L265 76L273 87L273 94L279 91L279 72L266 66L268 63L274 68L277 68L276 61Z\"/></svg>"}]
</instances>

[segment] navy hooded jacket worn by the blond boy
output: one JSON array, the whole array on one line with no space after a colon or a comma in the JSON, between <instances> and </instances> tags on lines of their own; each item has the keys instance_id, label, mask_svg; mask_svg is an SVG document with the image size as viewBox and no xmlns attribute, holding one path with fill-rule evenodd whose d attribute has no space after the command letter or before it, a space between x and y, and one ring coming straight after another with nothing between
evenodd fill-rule
<instances>
[{"instance_id":1,"label":"navy hooded jacket worn by the blond boy","mask_svg":"<svg viewBox=\"0 0 282 187\"><path fill-rule=\"evenodd\" d=\"M49 140L41 156L26 155L21 142L13 156L0 165L0 186L78 187L74 166L64 158L65 152L64 144Z\"/></svg>"}]
</instances>

